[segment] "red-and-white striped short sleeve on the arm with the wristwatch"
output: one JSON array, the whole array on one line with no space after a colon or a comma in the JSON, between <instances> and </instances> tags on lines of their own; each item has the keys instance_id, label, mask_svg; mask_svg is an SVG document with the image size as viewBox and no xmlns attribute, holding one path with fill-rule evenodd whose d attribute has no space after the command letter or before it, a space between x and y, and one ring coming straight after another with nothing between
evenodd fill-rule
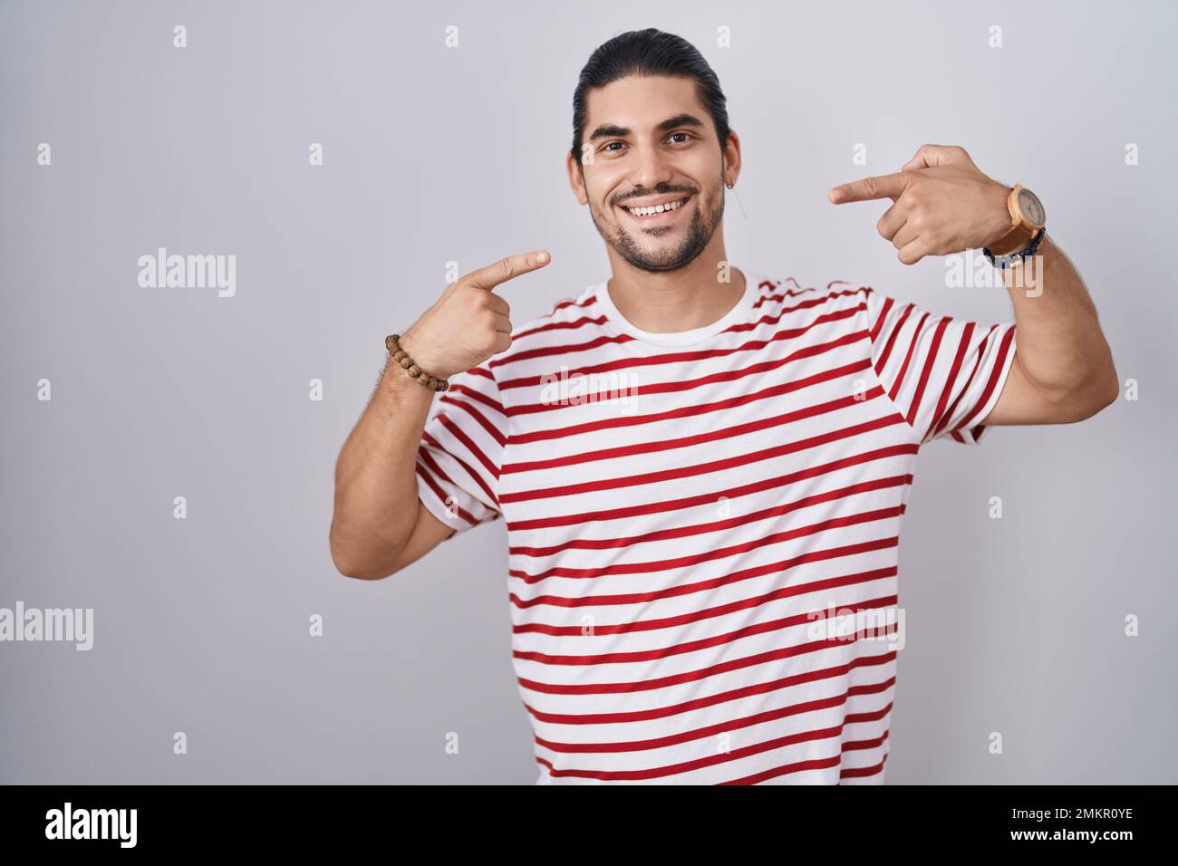
<instances>
[{"instance_id":1,"label":"red-and-white striped short sleeve on the arm with the wristwatch","mask_svg":"<svg viewBox=\"0 0 1178 866\"><path fill-rule=\"evenodd\" d=\"M872 363L920 443L978 444L1014 361L1014 323L939 316L865 287Z\"/></svg>"}]
</instances>

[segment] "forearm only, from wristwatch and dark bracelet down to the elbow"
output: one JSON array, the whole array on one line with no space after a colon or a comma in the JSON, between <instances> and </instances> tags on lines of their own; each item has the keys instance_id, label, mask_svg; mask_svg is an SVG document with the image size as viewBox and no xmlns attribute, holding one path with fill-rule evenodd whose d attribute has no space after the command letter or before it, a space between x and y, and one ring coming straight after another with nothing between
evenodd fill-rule
<instances>
[{"instance_id":1,"label":"forearm only, from wristwatch and dark bracelet down to the elbow","mask_svg":"<svg viewBox=\"0 0 1178 866\"><path fill-rule=\"evenodd\" d=\"M1014 361L1052 401L1079 415L1098 411L1116 399L1120 385L1096 305L1050 234L1038 256L1002 271L1014 304Z\"/></svg>"}]
</instances>

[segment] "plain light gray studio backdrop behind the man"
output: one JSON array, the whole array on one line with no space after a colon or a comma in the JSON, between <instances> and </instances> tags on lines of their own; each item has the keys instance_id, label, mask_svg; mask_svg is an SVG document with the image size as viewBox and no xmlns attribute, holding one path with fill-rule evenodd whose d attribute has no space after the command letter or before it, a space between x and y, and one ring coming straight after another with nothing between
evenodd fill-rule
<instances>
[{"instance_id":1,"label":"plain light gray studio backdrop behind the man","mask_svg":"<svg viewBox=\"0 0 1178 866\"><path fill-rule=\"evenodd\" d=\"M516 324L608 276L564 177L571 94L647 26L728 95L734 262L1008 320L1005 290L899 264L880 203L826 200L960 144L1044 199L1138 383L1083 424L924 449L887 781L1178 781L1174 6L683 0L0 4L0 607L94 610L90 652L0 643L0 781L535 780L502 523L345 579L333 464L446 262L550 250L504 290ZM158 247L236 256L236 295L140 287Z\"/></svg>"}]
</instances>

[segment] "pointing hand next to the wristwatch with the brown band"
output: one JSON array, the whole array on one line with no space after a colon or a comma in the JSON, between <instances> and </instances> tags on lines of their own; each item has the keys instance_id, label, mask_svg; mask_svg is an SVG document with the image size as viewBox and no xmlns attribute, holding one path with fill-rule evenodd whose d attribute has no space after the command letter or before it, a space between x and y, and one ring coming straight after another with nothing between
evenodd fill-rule
<instances>
[{"instance_id":1,"label":"pointing hand next to the wristwatch with the brown band","mask_svg":"<svg viewBox=\"0 0 1178 866\"><path fill-rule=\"evenodd\" d=\"M895 174L863 178L830 190L836 205L889 198L876 224L906 265L988 246L1011 230L1011 190L979 171L961 147L924 145Z\"/></svg>"}]
</instances>

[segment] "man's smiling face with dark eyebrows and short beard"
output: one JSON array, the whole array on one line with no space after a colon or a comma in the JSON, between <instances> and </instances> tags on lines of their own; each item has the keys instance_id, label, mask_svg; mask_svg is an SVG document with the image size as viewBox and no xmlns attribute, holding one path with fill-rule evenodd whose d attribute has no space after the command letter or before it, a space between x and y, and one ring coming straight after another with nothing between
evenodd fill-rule
<instances>
[{"instance_id":1,"label":"man's smiling face with dark eyebrows and short beard","mask_svg":"<svg viewBox=\"0 0 1178 866\"><path fill-rule=\"evenodd\" d=\"M630 77L589 91L583 144L589 213L622 258L674 271L703 251L724 213L723 158L694 80ZM630 210L660 204L673 210Z\"/></svg>"}]
</instances>

